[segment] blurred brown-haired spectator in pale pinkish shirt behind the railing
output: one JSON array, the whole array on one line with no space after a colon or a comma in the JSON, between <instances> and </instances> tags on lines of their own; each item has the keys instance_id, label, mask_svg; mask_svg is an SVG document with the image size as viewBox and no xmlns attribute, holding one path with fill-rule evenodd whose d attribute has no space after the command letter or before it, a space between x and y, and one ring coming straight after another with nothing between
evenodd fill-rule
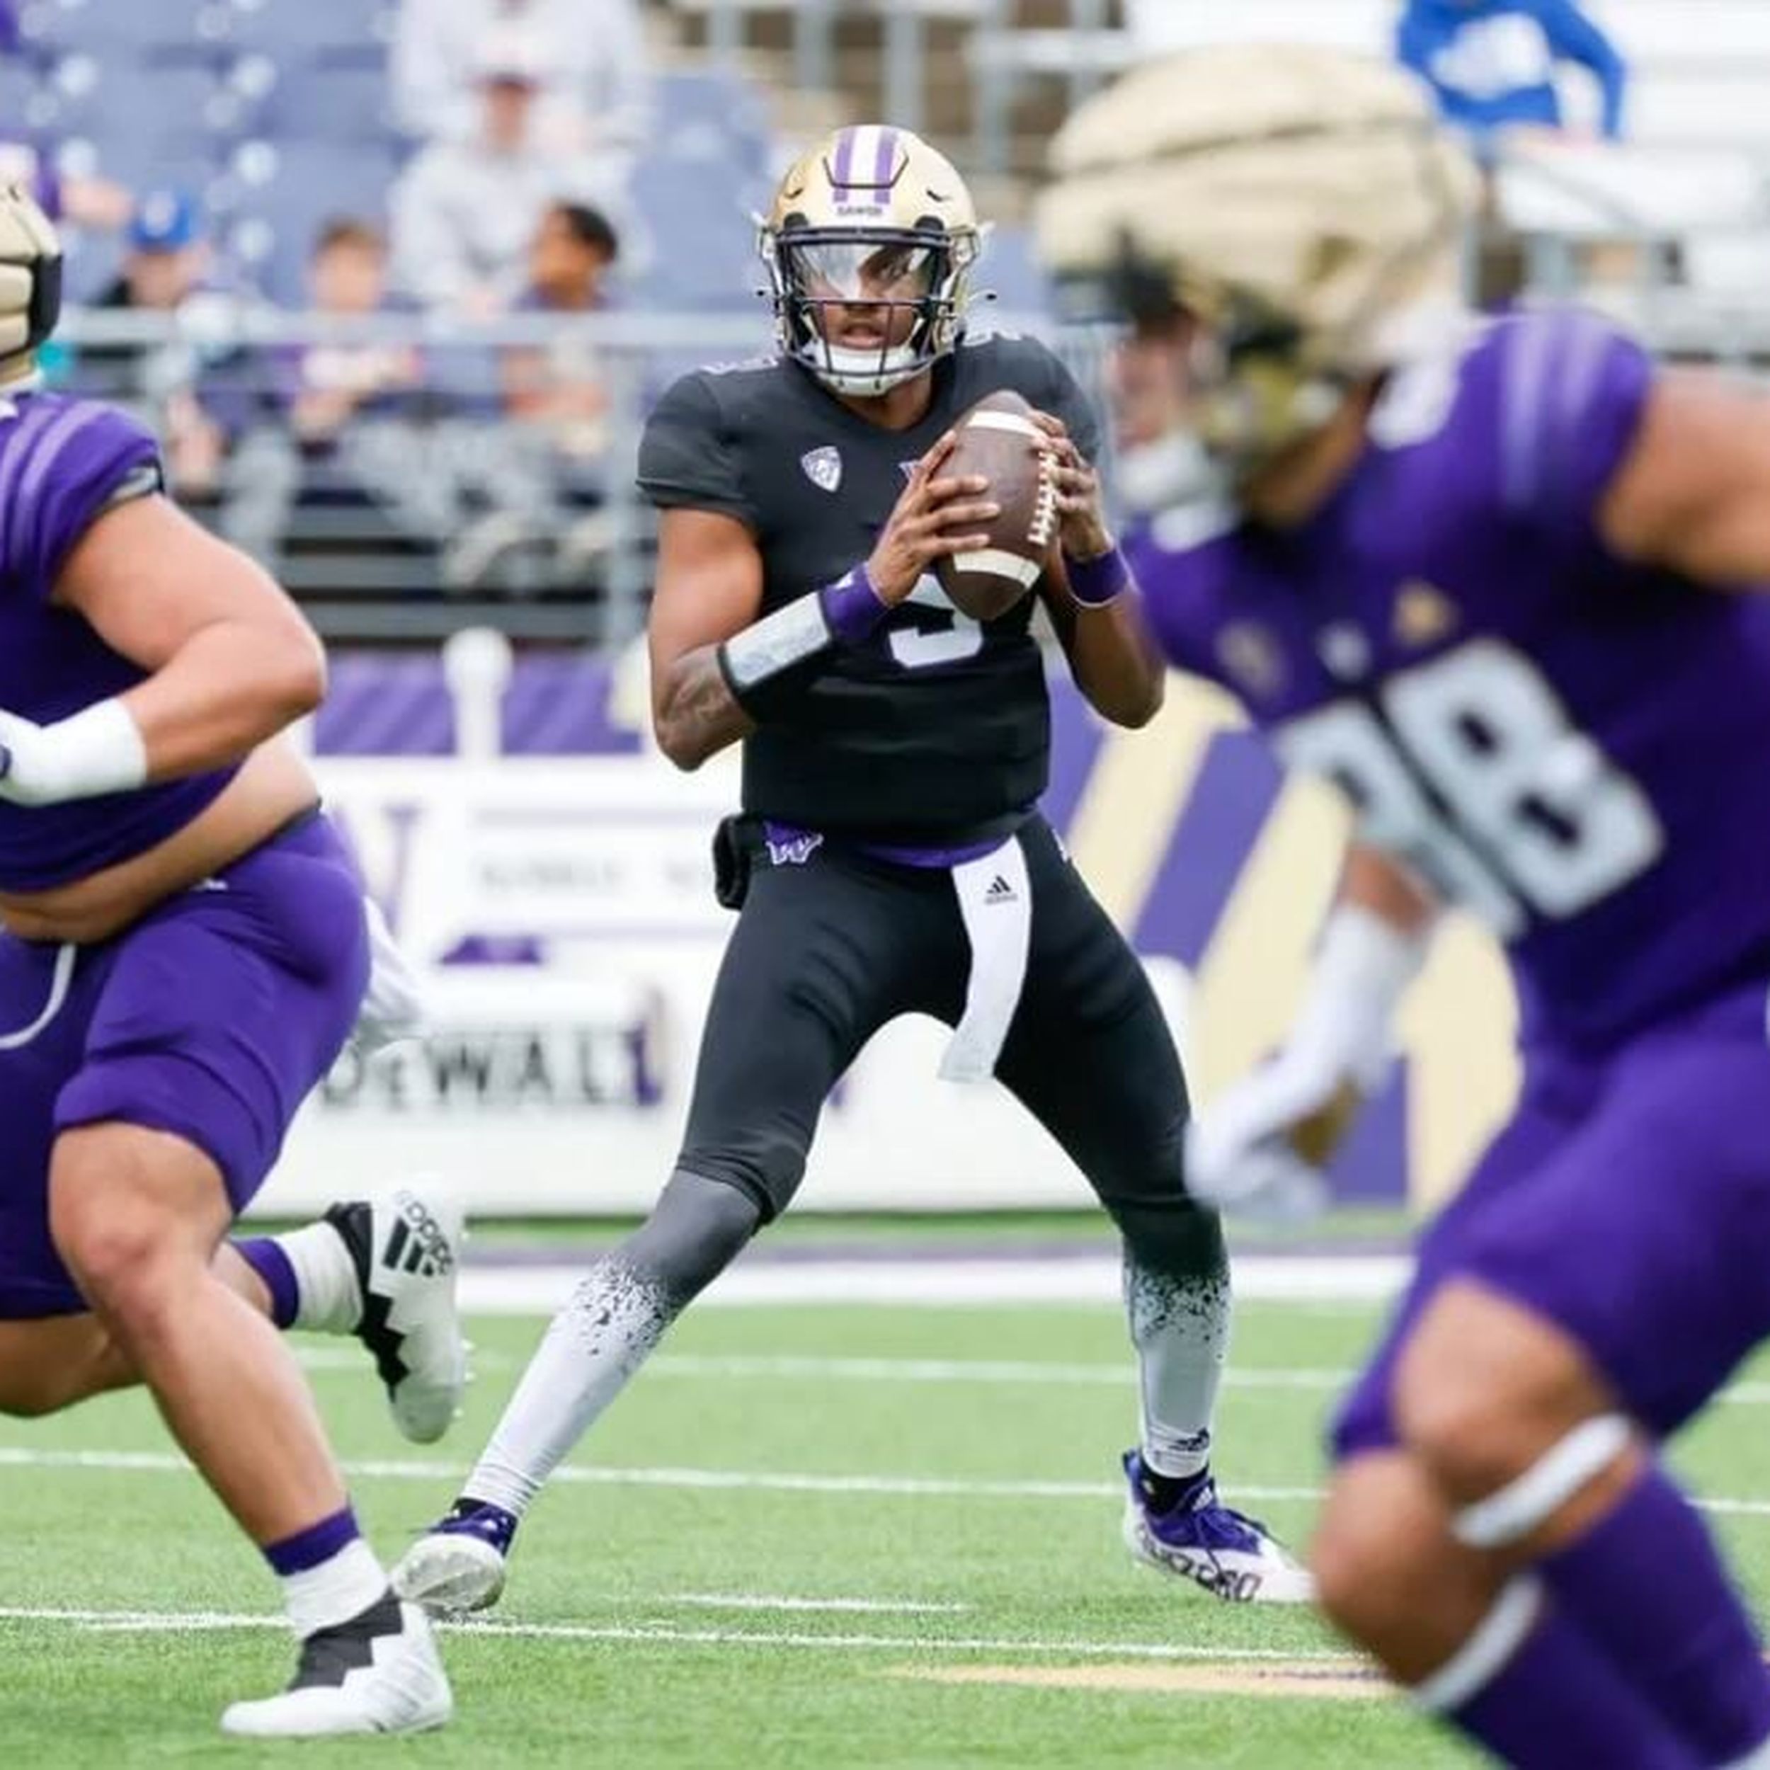
<instances>
[{"instance_id":1,"label":"blurred brown-haired spectator in pale pinkish shirt behind the railing","mask_svg":"<svg viewBox=\"0 0 1770 1770\"><path fill-rule=\"evenodd\" d=\"M312 312L331 319L365 319L389 310L388 242L368 221L327 221L308 260ZM411 404L425 365L405 343L345 340L297 345L283 354L278 382L289 421L308 453L324 453L359 414L388 416Z\"/></svg>"}]
</instances>

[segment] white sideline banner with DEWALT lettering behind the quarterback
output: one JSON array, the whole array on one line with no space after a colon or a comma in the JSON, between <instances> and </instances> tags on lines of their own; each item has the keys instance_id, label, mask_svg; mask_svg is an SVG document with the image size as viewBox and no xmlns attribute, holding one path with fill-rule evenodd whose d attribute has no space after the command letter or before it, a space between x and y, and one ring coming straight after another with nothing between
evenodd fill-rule
<instances>
[{"instance_id":1,"label":"white sideline banner with DEWALT lettering behind the quarterback","mask_svg":"<svg viewBox=\"0 0 1770 1770\"><path fill-rule=\"evenodd\" d=\"M327 807L419 966L434 1030L345 1055L260 1195L301 1214L435 1174L496 1214L641 1211L671 1172L701 1021L735 919L710 844L736 804L724 761L651 754L320 759ZM1152 966L1179 1020L1184 968ZM1090 1202L995 1083L940 1081L949 1034L899 1021L823 1113L816 1209Z\"/></svg>"}]
</instances>

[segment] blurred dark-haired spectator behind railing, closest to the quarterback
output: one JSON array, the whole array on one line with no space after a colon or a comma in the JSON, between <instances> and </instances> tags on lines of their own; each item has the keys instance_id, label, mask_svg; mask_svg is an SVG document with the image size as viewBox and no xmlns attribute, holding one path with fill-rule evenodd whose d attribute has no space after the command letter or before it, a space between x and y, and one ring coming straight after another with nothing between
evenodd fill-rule
<instances>
[{"instance_id":1,"label":"blurred dark-haired spectator behind railing, closest to the quarterback","mask_svg":"<svg viewBox=\"0 0 1770 1770\"><path fill-rule=\"evenodd\" d=\"M620 241L607 218L586 204L554 204L529 250L524 313L584 315L607 306L607 274ZM504 411L547 428L554 446L579 458L607 446L609 393L591 345L579 329L561 327L545 349L504 354Z\"/></svg>"}]
</instances>

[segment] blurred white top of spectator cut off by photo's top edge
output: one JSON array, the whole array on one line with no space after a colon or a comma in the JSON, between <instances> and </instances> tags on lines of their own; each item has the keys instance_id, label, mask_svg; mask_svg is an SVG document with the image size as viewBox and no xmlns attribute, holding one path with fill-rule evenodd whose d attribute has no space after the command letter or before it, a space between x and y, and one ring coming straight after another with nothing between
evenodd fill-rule
<instances>
[{"instance_id":1,"label":"blurred white top of spectator cut off by photo's top edge","mask_svg":"<svg viewBox=\"0 0 1770 1770\"><path fill-rule=\"evenodd\" d=\"M474 133L478 51L499 23L522 25L545 46L540 143L630 165L650 122L635 0L402 0L393 37L402 127L453 140Z\"/></svg>"}]
</instances>

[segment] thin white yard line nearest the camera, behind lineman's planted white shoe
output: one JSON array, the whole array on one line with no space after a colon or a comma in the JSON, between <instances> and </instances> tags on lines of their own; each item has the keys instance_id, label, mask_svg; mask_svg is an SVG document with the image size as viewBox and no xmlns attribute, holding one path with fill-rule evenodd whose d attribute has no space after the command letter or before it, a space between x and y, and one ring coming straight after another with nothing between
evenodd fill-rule
<instances>
[{"instance_id":1,"label":"thin white yard line nearest the camera, behind lineman's planted white shoe","mask_svg":"<svg viewBox=\"0 0 1770 1770\"><path fill-rule=\"evenodd\" d=\"M230 1611L88 1611L5 1605L0 1623L64 1623L103 1634L170 1634L205 1628L287 1628L281 1616L235 1614ZM671 1623L446 1623L464 1635L515 1635L529 1641L621 1641L666 1646L758 1646L807 1648L828 1653L1030 1653L1081 1658L1143 1660L1230 1660L1237 1664L1289 1664L1304 1660L1319 1666L1358 1669L1358 1660L1322 1648L1200 1648L1172 1641L1087 1641L1087 1639L998 1639L984 1635L820 1635L763 1628L678 1628Z\"/></svg>"}]
</instances>

